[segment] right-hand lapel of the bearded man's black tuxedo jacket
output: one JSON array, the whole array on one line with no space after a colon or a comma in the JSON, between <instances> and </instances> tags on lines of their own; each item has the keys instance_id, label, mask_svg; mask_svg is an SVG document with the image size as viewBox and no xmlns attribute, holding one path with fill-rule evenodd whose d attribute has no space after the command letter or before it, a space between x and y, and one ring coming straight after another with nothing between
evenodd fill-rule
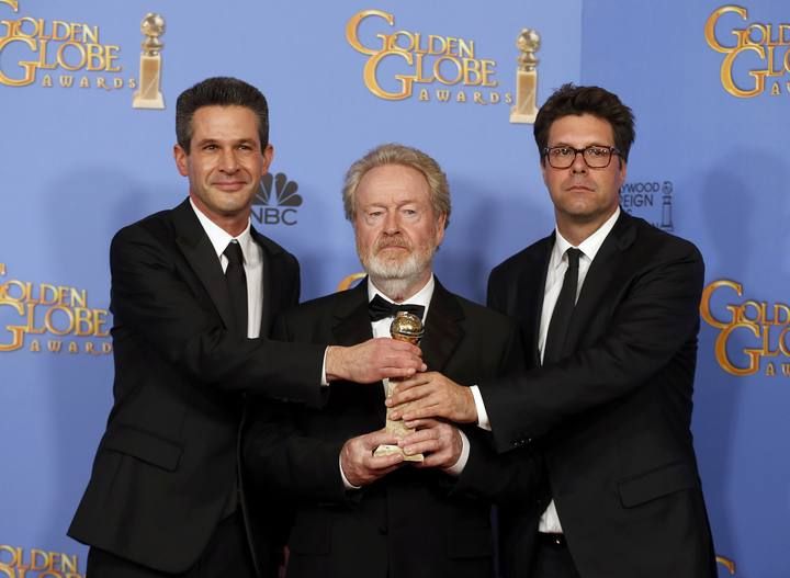
<instances>
[{"instance_id":1,"label":"right-hand lapel of the bearded man's black tuxedo jacket","mask_svg":"<svg viewBox=\"0 0 790 578\"><path fill-rule=\"evenodd\" d=\"M458 299L439 283L436 276L433 279L436 286L426 317L425 337L420 349L428 371L441 372L444 371L464 337L461 326L464 314Z\"/></svg>"}]
</instances>

